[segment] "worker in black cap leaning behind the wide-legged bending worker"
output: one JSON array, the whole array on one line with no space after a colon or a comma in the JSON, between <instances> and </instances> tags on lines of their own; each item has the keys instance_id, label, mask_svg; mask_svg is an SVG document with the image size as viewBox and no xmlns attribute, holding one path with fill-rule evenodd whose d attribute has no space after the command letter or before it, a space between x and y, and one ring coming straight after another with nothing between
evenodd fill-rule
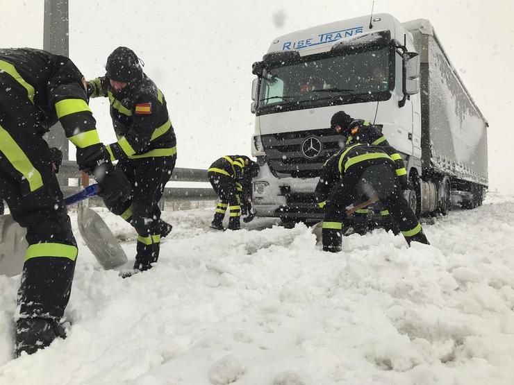
<instances>
[{"instance_id":1,"label":"worker in black cap leaning behind the wide-legged bending worker","mask_svg":"<svg viewBox=\"0 0 514 385\"><path fill-rule=\"evenodd\" d=\"M407 171L405 168L404 160L396 149L391 146L383 135L381 128L371 124L363 119L354 119L346 114L344 111L338 111L333 114L331 119L331 128L340 135L346 137L346 145L365 143L374 146L380 146L395 162L395 173L398 177L399 187L402 190L408 189ZM370 196L358 197L358 202L363 202L369 199ZM367 231L367 214L368 209L363 208L357 210L354 214L354 231L359 234L365 234ZM394 234L399 234L399 227L395 220L392 219L387 209L380 210L382 216L381 224L383 228L388 231L392 230Z\"/></svg>"}]
</instances>

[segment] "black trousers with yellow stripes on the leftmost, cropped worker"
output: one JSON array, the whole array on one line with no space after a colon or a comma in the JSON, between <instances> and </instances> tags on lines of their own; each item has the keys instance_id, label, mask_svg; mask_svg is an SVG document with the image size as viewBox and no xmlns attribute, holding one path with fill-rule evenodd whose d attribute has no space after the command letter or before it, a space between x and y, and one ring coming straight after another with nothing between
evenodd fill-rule
<instances>
[{"instance_id":1,"label":"black trousers with yellow stripes on the leftmost, cropped worker","mask_svg":"<svg viewBox=\"0 0 514 385\"><path fill-rule=\"evenodd\" d=\"M30 112L0 94L0 196L27 230L19 316L59 320L69 300L78 250L49 146Z\"/></svg>"}]
</instances>

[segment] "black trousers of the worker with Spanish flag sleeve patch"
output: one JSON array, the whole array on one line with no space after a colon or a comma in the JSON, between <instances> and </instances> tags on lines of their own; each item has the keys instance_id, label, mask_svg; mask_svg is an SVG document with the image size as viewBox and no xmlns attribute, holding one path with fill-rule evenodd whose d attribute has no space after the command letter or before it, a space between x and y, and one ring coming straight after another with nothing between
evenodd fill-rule
<instances>
[{"instance_id":1,"label":"black trousers of the worker with Spanish flag sleeve patch","mask_svg":"<svg viewBox=\"0 0 514 385\"><path fill-rule=\"evenodd\" d=\"M131 198L103 200L114 214L131 223L138 233L134 268L146 270L157 262L160 251L160 209L158 203L175 168L176 156L122 159L116 169L131 182Z\"/></svg>"}]
</instances>

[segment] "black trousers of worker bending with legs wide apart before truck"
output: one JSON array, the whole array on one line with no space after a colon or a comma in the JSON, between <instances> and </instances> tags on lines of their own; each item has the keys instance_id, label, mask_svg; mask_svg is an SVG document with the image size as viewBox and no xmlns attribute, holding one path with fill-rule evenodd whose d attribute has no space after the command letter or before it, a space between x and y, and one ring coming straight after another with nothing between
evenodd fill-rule
<instances>
[{"instance_id":1,"label":"black trousers of worker bending with legs wide apart before truck","mask_svg":"<svg viewBox=\"0 0 514 385\"><path fill-rule=\"evenodd\" d=\"M363 195L376 195L379 198L379 202L397 223L407 243L410 244L411 241L428 243L420 222L417 221L415 213L399 189L394 165L384 162L373 166L360 164L351 166L340 184L331 191L325 206L322 228L325 250L340 249L342 243L340 223L345 216L345 208Z\"/></svg>"}]
</instances>

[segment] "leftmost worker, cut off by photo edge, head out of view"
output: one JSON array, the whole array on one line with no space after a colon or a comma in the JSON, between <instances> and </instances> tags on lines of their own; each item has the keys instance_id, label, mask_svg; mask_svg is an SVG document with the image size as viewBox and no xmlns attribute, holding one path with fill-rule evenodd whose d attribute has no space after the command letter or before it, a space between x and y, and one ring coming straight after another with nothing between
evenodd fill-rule
<instances>
[{"instance_id":1,"label":"leftmost worker, cut off by photo edge, head out of view","mask_svg":"<svg viewBox=\"0 0 514 385\"><path fill-rule=\"evenodd\" d=\"M99 182L106 199L128 198L88 107L85 80L72 60L38 49L0 49L0 196L26 228L28 248L18 292L15 356L64 337L77 245L55 171L59 161L43 139L60 121L76 146L76 162Z\"/></svg>"}]
</instances>

